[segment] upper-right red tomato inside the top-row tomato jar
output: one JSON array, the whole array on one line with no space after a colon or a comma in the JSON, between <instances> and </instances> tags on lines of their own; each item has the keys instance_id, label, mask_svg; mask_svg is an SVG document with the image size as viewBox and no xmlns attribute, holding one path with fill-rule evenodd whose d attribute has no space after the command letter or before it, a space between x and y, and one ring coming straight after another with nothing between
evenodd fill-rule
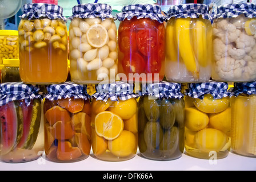
<instances>
[{"instance_id":1,"label":"upper-right red tomato inside the top-row tomato jar","mask_svg":"<svg viewBox=\"0 0 256 182\"><path fill-rule=\"evenodd\" d=\"M150 56L152 52L157 51L157 32L152 29L139 30L137 44L139 52L145 56Z\"/></svg>"}]
</instances>

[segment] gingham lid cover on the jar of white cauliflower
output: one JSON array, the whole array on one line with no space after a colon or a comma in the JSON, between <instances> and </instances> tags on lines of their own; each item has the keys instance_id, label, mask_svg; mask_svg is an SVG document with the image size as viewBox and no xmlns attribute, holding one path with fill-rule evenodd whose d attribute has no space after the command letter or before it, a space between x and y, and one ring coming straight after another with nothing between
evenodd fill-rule
<instances>
[{"instance_id":1,"label":"gingham lid cover on the jar of white cauliflower","mask_svg":"<svg viewBox=\"0 0 256 182\"><path fill-rule=\"evenodd\" d=\"M217 7L216 18L235 18L240 14L244 14L248 18L256 17L256 4L253 3L237 3L226 4Z\"/></svg>"}]
</instances>

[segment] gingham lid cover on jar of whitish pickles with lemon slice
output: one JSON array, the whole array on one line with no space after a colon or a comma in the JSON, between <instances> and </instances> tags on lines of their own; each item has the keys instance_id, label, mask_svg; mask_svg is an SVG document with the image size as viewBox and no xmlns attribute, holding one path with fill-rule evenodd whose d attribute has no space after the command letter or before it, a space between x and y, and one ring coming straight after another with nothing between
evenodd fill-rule
<instances>
[{"instance_id":1,"label":"gingham lid cover on jar of whitish pickles with lemon slice","mask_svg":"<svg viewBox=\"0 0 256 182\"><path fill-rule=\"evenodd\" d=\"M72 8L72 13L69 19L73 18L95 18L99 17L102 20L106 18L116 19L114 15L112 15L112 7L105 3L87 3L87 4L79 4Z\"/></svg>"}]
</instances>

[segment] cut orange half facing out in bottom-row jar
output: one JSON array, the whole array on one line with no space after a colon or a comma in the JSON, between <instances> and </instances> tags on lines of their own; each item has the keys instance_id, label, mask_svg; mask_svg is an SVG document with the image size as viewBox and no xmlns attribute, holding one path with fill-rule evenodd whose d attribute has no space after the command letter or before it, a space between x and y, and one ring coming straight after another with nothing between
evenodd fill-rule
<instances>
[{"instance_id":1,"label":"cut orange half facing out in bottom-row jar","mask_svg":"<svg viewBox=\"0 0 256 182\"><path fill-rule=\"evenodd\" d=\"M110 111L103 111L96 115L94 127L99 137L112 140L121 134L123 119Z\"/></svg>"}]
</instances>

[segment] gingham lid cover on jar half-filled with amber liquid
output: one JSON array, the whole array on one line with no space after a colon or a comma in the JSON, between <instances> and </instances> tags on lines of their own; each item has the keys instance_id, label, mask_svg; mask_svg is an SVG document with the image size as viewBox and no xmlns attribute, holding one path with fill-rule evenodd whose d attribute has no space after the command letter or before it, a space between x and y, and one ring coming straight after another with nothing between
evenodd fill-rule
<instances>
[{"instance_id":1,"label":"gingham lid cover on jar half-filled with amber liquid","mask_svg":"<svg viewBox=\"0 0 256 182\"><path fill-rule=\"evenodd\" d=\"M63 16L63 9L58 5L51 5L45 3L29 3L25 4L22 8L22 19L38 19L46 17L49 19L62 19L67 21L66 17Z\"/></svg>"}]
</instances>

